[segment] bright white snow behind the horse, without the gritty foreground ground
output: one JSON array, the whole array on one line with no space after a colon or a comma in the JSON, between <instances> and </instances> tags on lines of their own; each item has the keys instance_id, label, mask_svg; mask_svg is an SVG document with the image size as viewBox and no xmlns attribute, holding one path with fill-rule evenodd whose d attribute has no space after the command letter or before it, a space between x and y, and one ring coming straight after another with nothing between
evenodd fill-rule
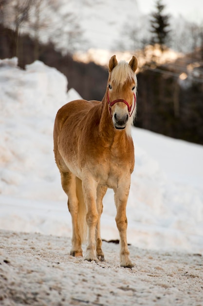
<instances>
[{"instance_id":1,"label":"bright white snow behind the horse, without the gritty foreground ground","mask_svg":"<svg viewBox=\"0 0 203 306\"><path fill-rule=\"evenodd\" d=\"M20 70L16 64L0 61L0 228L71 237L52 133L57 110L79 95L67 92L67 79L55 68L35 62ZM132 137L129 242L203 253L203 146L134 128ZM109 190L103 239L119 238L114 218Z\"/></svg>"}]
</instances>

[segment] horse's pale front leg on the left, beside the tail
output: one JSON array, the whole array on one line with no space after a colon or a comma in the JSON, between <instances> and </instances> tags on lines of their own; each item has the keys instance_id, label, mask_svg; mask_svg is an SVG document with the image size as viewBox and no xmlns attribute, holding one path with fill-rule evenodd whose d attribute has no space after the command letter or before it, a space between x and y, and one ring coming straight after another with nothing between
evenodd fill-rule
<instances>
[{"instance_id":1,"label":"horse's pale front leg on the left, beside the tail","mask_svg":"<svg viewBox=\"0 0 203 306\"><path fill-rule=\"evenodd\" d=\"M96 207L97 183L90 175L85 175L82 179L82 189L87 208L86 221L88 225L88 245L85 260L97 262L95 243L95 230L98 221Z\"/></svg>"}]
</instances>

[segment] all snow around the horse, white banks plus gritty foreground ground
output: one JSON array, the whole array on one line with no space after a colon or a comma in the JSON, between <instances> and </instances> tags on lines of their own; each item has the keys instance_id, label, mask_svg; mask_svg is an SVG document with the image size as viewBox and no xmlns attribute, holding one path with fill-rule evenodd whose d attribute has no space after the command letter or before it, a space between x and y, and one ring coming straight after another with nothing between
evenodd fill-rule
<instances>
[{"instance_id":1,"label":"all snow around the horse, white banks plus gritty foreground ground","mask_svg":"<svg viewBox=\"0 0 203 306\"><path fill-rule=\"evenodd\" d=\"M133 128L136 162L127 216L135 267L120 268L119 246L107 242L103 263L67 255L71 217L52 136L57 110L79 98L67 84L63 74L38 61L26 70L15 58L0 61L2 305L200 305L203 146ZM102 239L119 238L114 218L109 190Z\"/></svg>"}]
</instances>

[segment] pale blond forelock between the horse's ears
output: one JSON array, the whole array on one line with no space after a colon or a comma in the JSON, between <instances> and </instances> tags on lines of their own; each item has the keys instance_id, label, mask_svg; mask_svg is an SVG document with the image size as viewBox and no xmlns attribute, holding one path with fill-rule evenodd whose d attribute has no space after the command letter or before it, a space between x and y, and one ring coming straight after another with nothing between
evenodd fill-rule
<instances>
[{"instance_id":1,"label":"pale blond forelock between the horse's ears","mask_svg":"<svg viewBox=\"0 0 203 306\"><path fill-rule=\"evenodd\" d=\"M134 80L137 85L136 75L130 68L129 64L125 61L120 61L118 65L113 68L110 79L118 90L120 90L128 80Z\"/></svg>"}]
</instances>

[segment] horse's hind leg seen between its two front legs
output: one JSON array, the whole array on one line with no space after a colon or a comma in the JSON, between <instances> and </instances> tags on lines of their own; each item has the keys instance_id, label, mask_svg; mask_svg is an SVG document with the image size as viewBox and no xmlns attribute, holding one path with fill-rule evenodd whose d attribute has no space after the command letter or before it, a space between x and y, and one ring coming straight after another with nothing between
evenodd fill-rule
<instances>
[{"instance_id":1,"label":"horse's hind leg seen between its two front legs","mask_svg":"<svg viewBox=\"0 0 203 306\"><path fill-rule=\"evenodd\" d=\"M97 194L96 194L96 207L98 212L98 221L96 224L96 233L95 233L95 239L96 239L96 256L97 258L103 262L104 261L104 253L102 252L101 246L102 246L102 240L101 240L101 233L100 233L100 218L103 211L103 197L105 196L107 192L107 187L105 186L98 186L97 187Z\"/></svg>"}]
</instances>

